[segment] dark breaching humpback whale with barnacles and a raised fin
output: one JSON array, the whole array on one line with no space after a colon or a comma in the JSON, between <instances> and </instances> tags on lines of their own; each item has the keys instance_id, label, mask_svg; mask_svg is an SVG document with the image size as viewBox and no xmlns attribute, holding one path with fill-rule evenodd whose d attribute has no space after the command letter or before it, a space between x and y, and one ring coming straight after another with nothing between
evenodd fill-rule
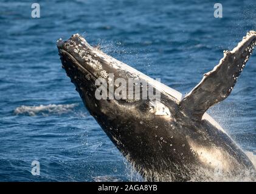
<instances>
[{"instance_id":1,"label":"dark breaching humpback whale with barnacles and a raised fin","mask_svg":"<svg viewBox=\"0 0 256 194\"><path fill-rule=\"evenodd\" d=\"M230 95L255 45L256 32L250 31L182 96L92 47L81 35L57 41L63 69L89 113L145 181L255 180L251 160L206 113ZM96 99L95 81L110 73L147 82L161 100Z\"/></svg>"}]
</instances>

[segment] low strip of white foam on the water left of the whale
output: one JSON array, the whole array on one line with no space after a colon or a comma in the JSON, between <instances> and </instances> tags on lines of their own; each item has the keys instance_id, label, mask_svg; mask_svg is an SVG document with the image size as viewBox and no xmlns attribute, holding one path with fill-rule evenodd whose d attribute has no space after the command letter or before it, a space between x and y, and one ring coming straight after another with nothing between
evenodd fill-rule
<instances>
[{"instance_id":1,"label":"low strip of white foam on the water left of the whale","mask_svg":"<svg viewBox=\"0 0 256 194\"><path fill-rule=\"evenodd\" d=\"M61 115L63 113L71 112L78 104L49 104L38 106L21 105L14 110L15 115L29 115L29 116L49 116L49 114Z\"/></svg>"}]
</instances>

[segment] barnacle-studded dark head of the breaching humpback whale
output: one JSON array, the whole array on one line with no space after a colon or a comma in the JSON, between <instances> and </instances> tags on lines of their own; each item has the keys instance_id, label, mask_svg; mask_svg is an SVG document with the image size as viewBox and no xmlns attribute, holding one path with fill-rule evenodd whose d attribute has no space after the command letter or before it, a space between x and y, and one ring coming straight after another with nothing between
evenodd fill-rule
<instances>
[{"instance_id":1,"label":"barnacle-studded dark head of the breaching humpback whale","mask_svg":"<svg viewBox=\"0 0 256 194\"><path fill-rule=\"evenodd\" d=\"M57 47L86 108L117 147L128 139L141 142L137 138L143 135L136 134L150 135L151 129L157 129L157 119L173 119L181 93L92 47L78 34L59 39ZM99 87L106 89L105 98L97 98L103 91ZM135 146L127 142L126 147L131 145Z\"/></svg>"}]
</instances>

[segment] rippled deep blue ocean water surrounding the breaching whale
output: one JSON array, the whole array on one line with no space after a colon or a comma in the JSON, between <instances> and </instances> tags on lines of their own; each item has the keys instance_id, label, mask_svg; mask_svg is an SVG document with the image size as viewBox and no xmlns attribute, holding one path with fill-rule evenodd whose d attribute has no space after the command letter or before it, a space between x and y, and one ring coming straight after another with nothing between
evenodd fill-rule
<instances>
[{"instance_id":1,"label":"rippled deep blue ocean water surrounding the breaching whale","mask_svg":"<svg viewBox=\"0 0 256 194\"><path fill-rule=\"evenodd\" d=\"M61 69L55 42L81 33L111 56L189 92L249 30L254 0L0 1L0 181L136 181ZM256 56L208 112L255 161ZM31 173L40 162L40 176ZM255 162L256 164L256 162ZM241 180L243 181L243 180Z\"/></svg>"}]
</instances>

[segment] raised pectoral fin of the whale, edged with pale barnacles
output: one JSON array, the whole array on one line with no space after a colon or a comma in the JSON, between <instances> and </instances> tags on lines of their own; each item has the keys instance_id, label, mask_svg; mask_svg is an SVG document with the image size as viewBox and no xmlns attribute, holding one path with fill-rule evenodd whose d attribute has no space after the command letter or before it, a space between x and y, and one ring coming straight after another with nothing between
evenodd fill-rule
<instances>
[{"instance_id":1,"label":"raised pectoral fin of the whale, edged with pale barnacles","mask_svg":"<svg viewBox=\"0 0 256 194\"><path fill-rule=\"evenodd\" d=\"M202 81L182 99L179 104L180 112L201 121L209 107L227 98L252 54L255 41L256 32L251 31L232 51L224 51L220 63L206 73Z\"/></svg>"}]
</instances>

